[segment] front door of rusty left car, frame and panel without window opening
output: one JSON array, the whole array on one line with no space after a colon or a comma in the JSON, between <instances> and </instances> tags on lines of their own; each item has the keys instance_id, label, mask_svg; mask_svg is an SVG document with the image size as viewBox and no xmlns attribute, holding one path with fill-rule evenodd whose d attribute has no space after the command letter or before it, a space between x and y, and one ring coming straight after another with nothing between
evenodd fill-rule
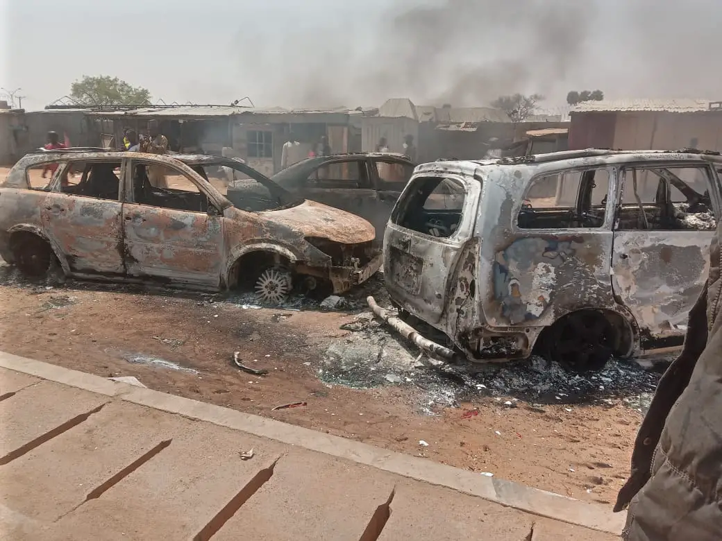
<instances>
[{"instance_id":1,"label":"front door of rusty left car, frame and panel without window opening","mask_svg":"<svg viewBox=\"0 0 722 541\"><path fill-rule=\"evenodd\" d=\"M129 277L217 290L225 268L223 211L230 203L191 167L147 154L126 157L123 234ZM176 170L208 198L208 211L185 211L136 203L136 162ZM211 210L213 209L213 210Z\"/></svg>"}]
</instances>

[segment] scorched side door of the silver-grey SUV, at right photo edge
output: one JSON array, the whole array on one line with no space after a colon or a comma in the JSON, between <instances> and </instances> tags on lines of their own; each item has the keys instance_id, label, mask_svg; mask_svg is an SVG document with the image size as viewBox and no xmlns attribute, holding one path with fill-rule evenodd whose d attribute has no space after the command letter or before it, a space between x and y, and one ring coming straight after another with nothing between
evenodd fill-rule
<instances>
[{"instance_id":1,"label":"scorched side door of the silver-grey SUV, at right photo edge","mask_svg":"<svg viewBox=\"0 0 722 541\"><path fill-rule=\"evenodd\" d=\"M678 346L709 271L721 210L716 173L700 162L645 162L622 167L620 178L614 294L635 316L642 349Z\"/></svg>"}]
</instances>

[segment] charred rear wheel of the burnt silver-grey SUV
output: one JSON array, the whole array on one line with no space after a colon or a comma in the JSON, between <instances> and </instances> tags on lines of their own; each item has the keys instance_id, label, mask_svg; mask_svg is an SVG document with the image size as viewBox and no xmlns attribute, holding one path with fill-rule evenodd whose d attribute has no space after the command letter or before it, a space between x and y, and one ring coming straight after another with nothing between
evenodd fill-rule
<instances>
[{"instance_id":1,"label":"charred rear wheel of the burnt silver-grey SUV","mask_svg":"<svg viewBox=\"0 0 722 541\"><path fill-rule=\"evenodd\" d=\"M565 315L554 323L547 340L549 358L573 372L603 369L618 342L612 323L596 310Z\"/></svg>"}]
</instances>

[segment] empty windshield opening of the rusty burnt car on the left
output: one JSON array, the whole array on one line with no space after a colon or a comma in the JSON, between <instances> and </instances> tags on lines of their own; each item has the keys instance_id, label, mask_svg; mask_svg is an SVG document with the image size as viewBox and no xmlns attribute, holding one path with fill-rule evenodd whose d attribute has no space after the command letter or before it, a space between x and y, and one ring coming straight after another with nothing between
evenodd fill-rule
<instances>
[{"instance_id":1,"label":"empty windshield opening of the rusty burnt car on the left","mask_svg":"<svg viewBox=\"0 0 722 541\"><path fill-rule=\"evenodd\" d=\"M277 211L303 203L302 198L232 159L218 164L197 164L191 168L242 211Z\"/></svg>"}]
</instances>

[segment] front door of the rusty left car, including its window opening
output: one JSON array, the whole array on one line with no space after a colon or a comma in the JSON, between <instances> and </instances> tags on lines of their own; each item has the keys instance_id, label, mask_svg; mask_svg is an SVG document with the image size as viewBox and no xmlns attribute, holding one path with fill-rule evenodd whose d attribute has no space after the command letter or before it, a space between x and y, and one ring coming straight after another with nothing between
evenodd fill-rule
<instances>
[{"instance_id":1,"label":"front door of the rusty left car, including its window opening","mask_svg":"<svg viewBox=\"0 0 722 541\"><path fill-rule=\"evenodd\" d=\"M187 166L166 165L168 187L154 187L147 175L152 164L152 159L134 159L126 167L123 232L128 275L217 288L223 218L209 201L204 180Z\"/></svg>"}]
</instances>

